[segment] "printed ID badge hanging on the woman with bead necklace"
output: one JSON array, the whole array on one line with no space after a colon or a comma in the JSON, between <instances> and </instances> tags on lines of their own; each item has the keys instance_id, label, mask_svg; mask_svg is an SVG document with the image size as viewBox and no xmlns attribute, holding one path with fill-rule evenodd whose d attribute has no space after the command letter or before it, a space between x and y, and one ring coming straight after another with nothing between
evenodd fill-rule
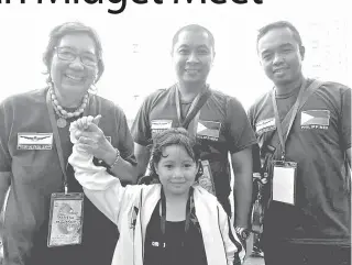
<instances>
[{"instance_id":1,"label":"printed ID badge hanging on the woman with bead necklace","mask_svg":"<svg viewBox=\"0 0 352 265\"><path fill-rule=\"evenodd\" d=\"M84 224L84 194L52 194L47 246L78 245Z\"/></svg>"}]
</instances>

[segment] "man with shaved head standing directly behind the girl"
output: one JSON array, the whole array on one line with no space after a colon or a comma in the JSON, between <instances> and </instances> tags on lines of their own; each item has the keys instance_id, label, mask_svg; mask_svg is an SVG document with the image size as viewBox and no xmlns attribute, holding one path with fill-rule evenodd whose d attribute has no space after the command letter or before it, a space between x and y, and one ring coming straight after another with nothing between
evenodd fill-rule
<instances>
[{"instance_id":1,"label":"man with shaved head standing directly behind the girl","mask_svg":"<svg viewBox=\"0 0 352 265\"><path fill-rule=\"evenodd\" d=\"M173 38L172 57L177 84L150 95L132 125L140 176L144 175L153 134L184 126L200 143L202 187L213 192L231 217L229 201L231 154L234 172L237 232L248 236L252 198L252 144L256 143L241 103L207 85L215 58L215 40L200 25L186 25Z\"/></svg>"}]
</instances>

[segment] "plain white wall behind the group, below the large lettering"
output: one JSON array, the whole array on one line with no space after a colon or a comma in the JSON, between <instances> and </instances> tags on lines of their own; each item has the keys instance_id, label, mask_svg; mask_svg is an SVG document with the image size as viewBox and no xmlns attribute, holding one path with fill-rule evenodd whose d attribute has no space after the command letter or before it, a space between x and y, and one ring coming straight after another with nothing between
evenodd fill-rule
<instances>
[{"instance_id":1,"label":"plain white wall behind the group, below the large lettering","mask_svg":"<svg viewBox=\"0 0 352 265\"><path fill-rule=\"evenodd\" d=\"M349 0L264 0L261 5L252 0L242 5L231 0L226 4L164 0L167 3L140 5L129 0L122 14L109 14L109 8L119 7L109 1L91 5L84 0L78 4L44 1L0 3L0 100L45 86L42 54L47 36L66 21L81 21L99 33L106 63L99 95L118 102L130 119L147 93L173 84L172 37L188 23L213 32L217 55L209 81L245 108L272 86L260 67L255 37L258 27L275 20L289 20L301 32L307 75L352 86ZM133 53L134 44L138 53Z\"/></svg>"}]
</instances>

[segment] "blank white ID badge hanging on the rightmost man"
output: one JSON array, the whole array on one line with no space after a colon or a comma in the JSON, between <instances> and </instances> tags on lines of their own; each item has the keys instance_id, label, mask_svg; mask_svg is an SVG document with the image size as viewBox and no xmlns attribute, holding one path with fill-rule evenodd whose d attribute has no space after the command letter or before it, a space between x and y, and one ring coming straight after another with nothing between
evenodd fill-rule
<instances>
[{"instance_id":1,"label":"blank white ID badge hanging on the rightmost man","mask_svg":"<svg viewBox=\"0 0 352 265\"><path fill-rule=\"evenodd\" d=\"M297 163L273 162L273 200L295 206Z\"/></svg>"}]
</instances>

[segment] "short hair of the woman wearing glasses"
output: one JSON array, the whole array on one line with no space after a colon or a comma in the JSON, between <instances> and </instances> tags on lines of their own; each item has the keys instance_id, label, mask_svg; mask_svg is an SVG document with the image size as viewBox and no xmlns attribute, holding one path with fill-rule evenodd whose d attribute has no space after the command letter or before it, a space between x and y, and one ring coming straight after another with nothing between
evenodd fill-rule
<instances>
[{"instance_id":1,"label":"short hair of the woman wearing glasses","mask_svg":"<svg viewBox=\"0 0 352 265\"><path fill-rule=\"evenodd\" d=\"M90 36L94 40L96 44L96 55L98 57L98 75L95 81L97 82L105 69L103 62L102 62L101 42L97 32L94 29L80 22L66 22L55 26L51 31L50 40L43 55L43 62L44 62L44 65L46 66L47 74L50 74L54 48L58 45L59 41L65 35L75 34L75 33L86 33L88 36Z\"/></svg>"}]
</instances>

